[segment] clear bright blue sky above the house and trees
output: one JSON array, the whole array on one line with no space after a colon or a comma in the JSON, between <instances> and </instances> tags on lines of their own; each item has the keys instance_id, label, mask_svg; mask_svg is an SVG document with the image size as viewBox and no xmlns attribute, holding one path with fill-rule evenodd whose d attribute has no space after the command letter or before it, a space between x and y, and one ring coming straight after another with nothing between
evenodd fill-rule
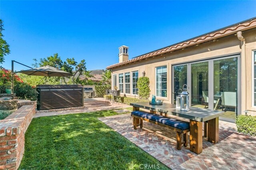
<instances>
[{"instance_id":1,"label":"clear bright blue sky above the house and trees","mask_svg":"<svg viewBox=\"0 0 256 170\"><path fill-rule=\"evenodd\" d=\"M87 70L118 63L118 47L129 59L256 16L256 1L4 1L0 18L11 60L58 53L86 60ZM27 69L15 64L15 70Z\"/></svg>"}]
</instances>

